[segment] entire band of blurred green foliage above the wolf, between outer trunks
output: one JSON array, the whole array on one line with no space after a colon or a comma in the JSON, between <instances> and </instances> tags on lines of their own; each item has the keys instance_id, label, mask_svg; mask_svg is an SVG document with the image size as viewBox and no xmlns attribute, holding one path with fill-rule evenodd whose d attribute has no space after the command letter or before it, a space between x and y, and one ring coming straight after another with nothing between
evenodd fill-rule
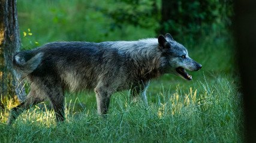
<instances>
[{"instance_id":1,"label":"entire band of blurred green foliage above the wolf, between outer trunks","mask_svg":"<svg viewBox=\"0 0 256 143\"><path fill-rule=\"evenodd\" d=\"M30 28L34 34L31 41L41 44L136 40L167 32L178 40L186 35L196 41L202 35L227 34L231 27L232 0L174 1L167 21L161 21L161 2L164 1L28 0L19 1L17 6L21 31ZM31 46L23 40L22 43L25 47Z\"/></svg>"}]
</instances>

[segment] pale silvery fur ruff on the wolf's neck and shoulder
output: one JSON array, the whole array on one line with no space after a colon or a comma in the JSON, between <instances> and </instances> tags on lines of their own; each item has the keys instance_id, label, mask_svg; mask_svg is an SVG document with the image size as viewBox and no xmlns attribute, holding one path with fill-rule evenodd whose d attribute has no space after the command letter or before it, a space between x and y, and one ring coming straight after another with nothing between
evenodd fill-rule
<instances>
[{"instance_id":1,"label":"pale silvery fur ruff on the wolf's neck and shoulder","mask_svg":"<svg viewBox=\"0 0 256 143\"><path fill-rule=\"evenodd\" d=\"M131 70L134 70L138 77L149 80L164 74L162 67L165 66L165 57L162 57L158 46L156 38L149 38L115 42L111 47L118 49L120 54L125 54L129 58Z\"/></svg>"}]
</instances>

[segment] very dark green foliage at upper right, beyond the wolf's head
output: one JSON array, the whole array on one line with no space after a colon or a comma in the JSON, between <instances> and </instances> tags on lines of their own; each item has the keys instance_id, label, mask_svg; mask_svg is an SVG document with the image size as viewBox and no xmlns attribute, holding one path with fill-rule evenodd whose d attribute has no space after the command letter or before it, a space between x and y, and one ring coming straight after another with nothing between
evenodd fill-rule
<instances>
[{"instance_id":1,"label":"very dark green foliage at upper right, beyond the wolf's head","mask_svg":"<svg viewBox=\"0 0 256 143\"><path fill-rule=\"evenodd\" d=\"M165 1L162 1L165 2ZM162 21L161 32L170 32L178 38L188 35L193 39L212 32L226 32L231 26L233 1L173 1L173 10L168 13L168 20Z\"/></svg>"}]
</instances>

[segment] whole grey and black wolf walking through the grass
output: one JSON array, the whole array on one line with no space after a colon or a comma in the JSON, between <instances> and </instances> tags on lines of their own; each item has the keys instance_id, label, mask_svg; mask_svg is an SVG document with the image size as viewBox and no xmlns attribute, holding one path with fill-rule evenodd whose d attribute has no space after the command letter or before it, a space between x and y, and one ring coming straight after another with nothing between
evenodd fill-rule
<instances>
[{"instance_id":1,"label":"whole grey and black wolf walking through the grass","mask_svg":"<svg viewBox=\"0 0 256 143\"><path fill-rule=\"evenodd\" d=\"M18 52L13 65L22 78L28 78L31 91L24 102L11 109L7 125L23 110L46 99L52 102L57 122L62 122L64 91L85 89L94 89L98 114L104 116L115 92L132 89L134 99L143 92L146 101L150 79L171 73L191 80L186 70L202 67L169 33L138 41L47 43Z\"/></svg>"}]
</instances>

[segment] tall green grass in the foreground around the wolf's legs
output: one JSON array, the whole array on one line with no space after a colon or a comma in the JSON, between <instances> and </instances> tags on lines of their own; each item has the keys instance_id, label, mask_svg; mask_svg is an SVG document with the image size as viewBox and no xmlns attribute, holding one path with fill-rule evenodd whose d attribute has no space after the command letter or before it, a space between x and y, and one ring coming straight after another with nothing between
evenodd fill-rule
<instances>
[{"instance_id":1,"label":"tall green grass in the foreground around the wolf's legs","mask_svg":"<svg viewBox=\"0 0 256 143\"><path fill-rule=\"evenodd\" d=\"M67 121L56 125L52 110L37 107L20 116L13 126L0 123L1 142L242 142L242 104L237 85L227 78L215 83L198 81L183 91L162 86L156 102L131 102L127 92L112 97L107 118L94 104L75 110L68 101ZM151 95L152 96L152 95ZM80 98L80 97L77 97Z\"/></svg>"}]
</instances>

